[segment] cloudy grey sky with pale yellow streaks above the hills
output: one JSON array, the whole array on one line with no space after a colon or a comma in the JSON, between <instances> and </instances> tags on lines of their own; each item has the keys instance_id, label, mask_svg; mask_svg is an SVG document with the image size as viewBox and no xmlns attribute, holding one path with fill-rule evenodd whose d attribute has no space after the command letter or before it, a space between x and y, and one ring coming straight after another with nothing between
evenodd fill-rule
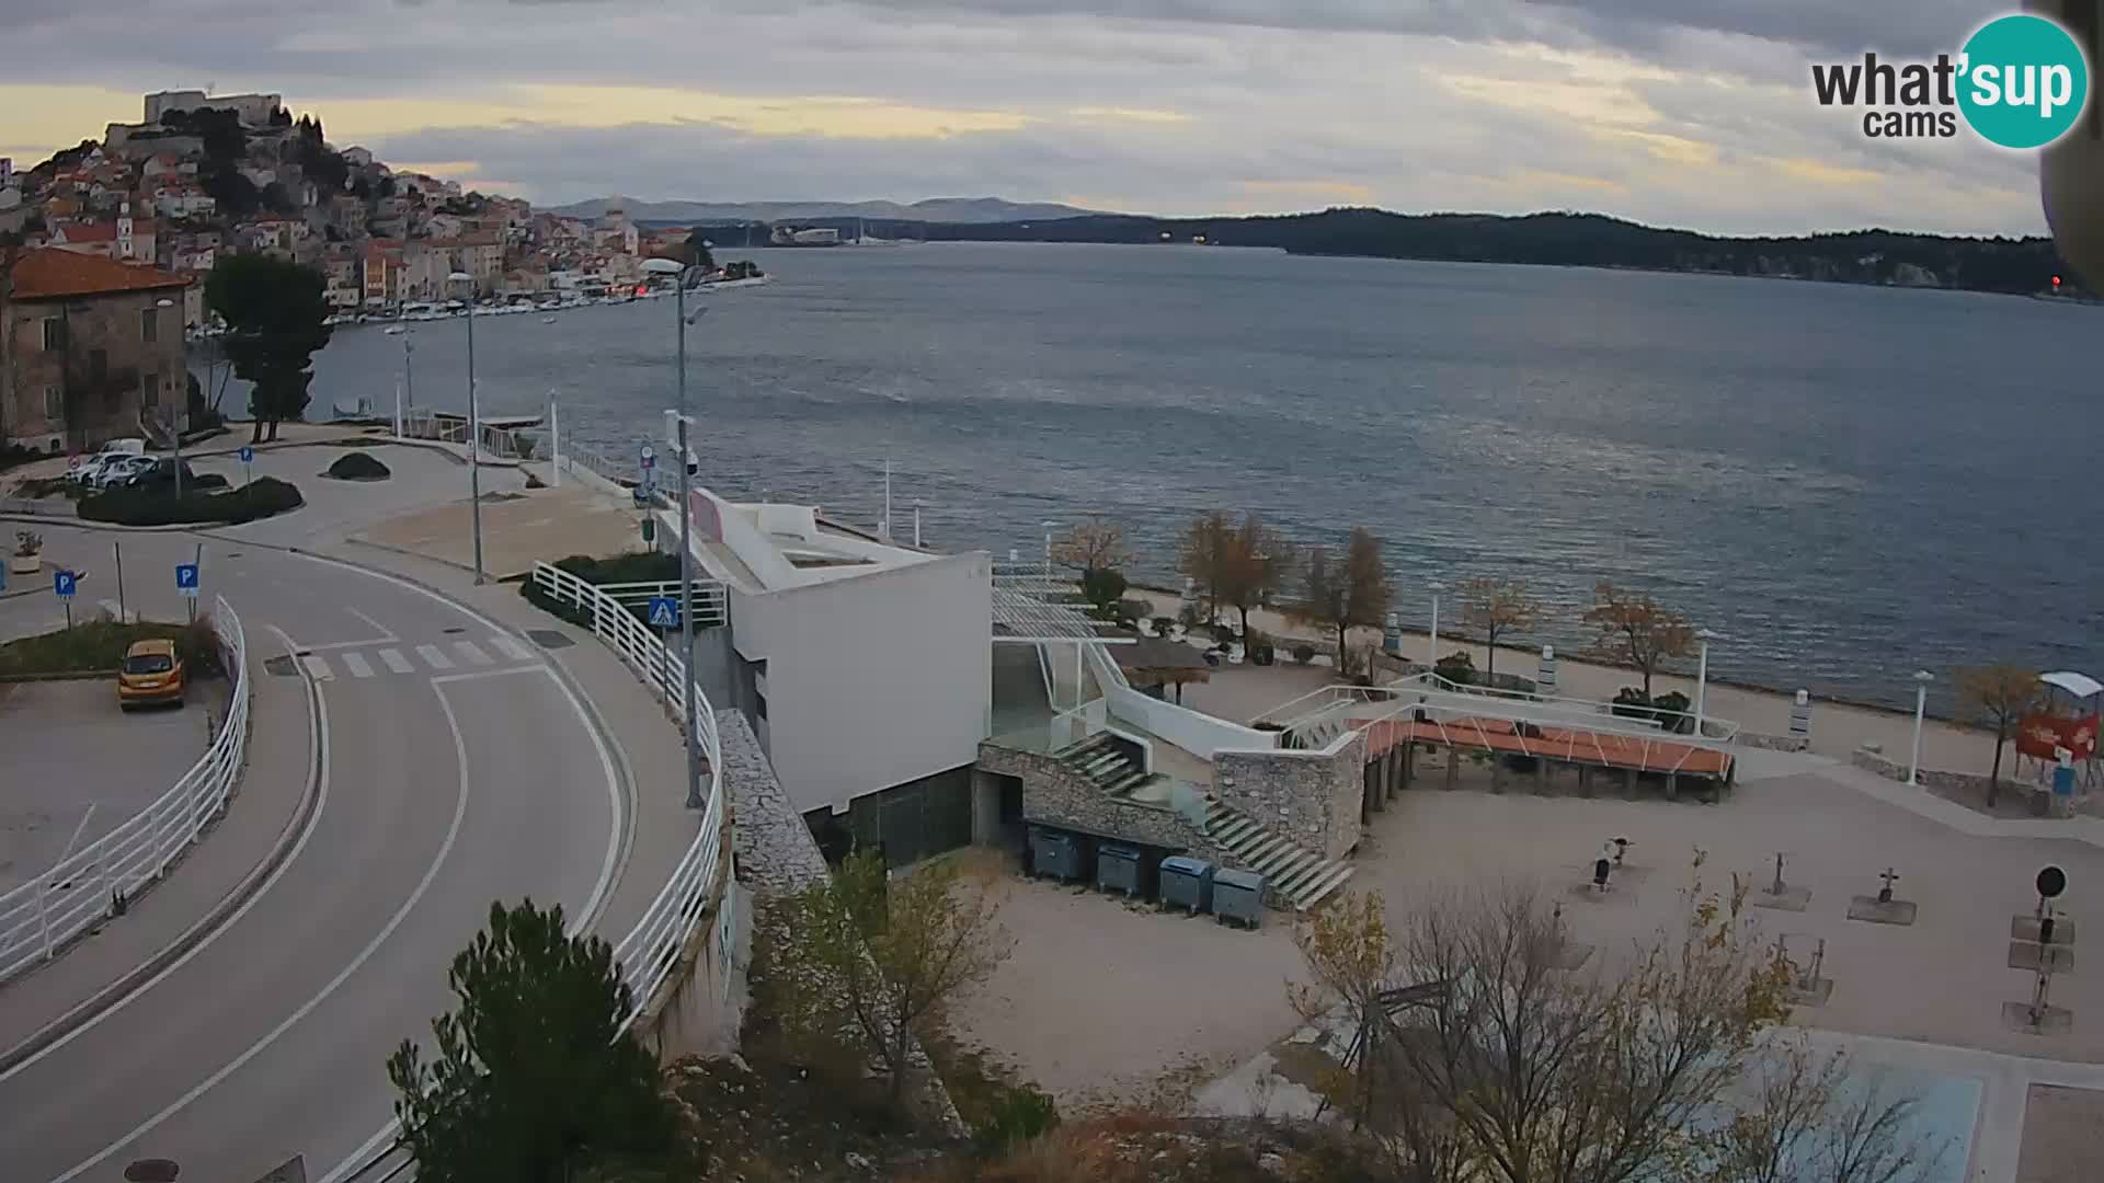
<instances>
[{"instance_id":1,"label":"cloudy grey sky with pale yellow streaks above the hills","mask_svg":"<svg viewBox=\"0 0 2104 1183\"><path fill-rule=\"evenodd\" d=\"M0 0L0 156L162 88L537 204L999 196L2041 234L2028 154L1866 139L1826 61L1980 0Z\"/></svg>"}]
</instances>

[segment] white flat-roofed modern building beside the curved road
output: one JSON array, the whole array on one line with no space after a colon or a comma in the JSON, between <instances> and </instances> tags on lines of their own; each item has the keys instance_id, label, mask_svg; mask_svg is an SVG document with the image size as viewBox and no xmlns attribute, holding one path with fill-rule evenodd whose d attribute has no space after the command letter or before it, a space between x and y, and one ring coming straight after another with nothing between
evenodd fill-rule
<instances>
[{"instance_id":1,"label":"white flat-roofed modern building beside the curved road","mask_svg":"<svg viewBox=\"0 0 2104 1183\"><path fill-rule=\"evenodd\" d=\"M669 448L667 448L669 450ZM675 480L675 472L671 474ZM970 842L993 703L993 575L831 522L812 505L696 488L694 556L724 583L713 682L753 722L791 804L894 861ZM659 514L677 552L677 514ZM711 682L711 657L696 671Z\"/></svg>"}]
</instances>

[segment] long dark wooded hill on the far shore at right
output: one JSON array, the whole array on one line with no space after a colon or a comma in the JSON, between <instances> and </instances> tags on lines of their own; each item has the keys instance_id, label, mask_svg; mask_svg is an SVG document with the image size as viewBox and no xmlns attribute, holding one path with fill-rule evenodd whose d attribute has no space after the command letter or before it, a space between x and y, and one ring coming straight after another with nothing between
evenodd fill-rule
<instances>
[{"instance_id":1,"label":"long dark wooded hill on the far shore at right","mask_svg":"<svg viewBox=\"0 0 2104 1183\"><path fill-rule=\"evenodd\" d=\"M2064 276L2064 295L2085 295L2075 272L2054 250L2051 238L1948 238L1889 229L1721 238L1578 213L1504 217L1332 208L1195 219L1086 215L1063 221L928 225L917 236L953 242L1134 244L1191 244L1203 238L1216 246L1275 246L1294 255L1708 272L2009 295L2049 293L2054 276Z\"/></svg>"}]
</instances>

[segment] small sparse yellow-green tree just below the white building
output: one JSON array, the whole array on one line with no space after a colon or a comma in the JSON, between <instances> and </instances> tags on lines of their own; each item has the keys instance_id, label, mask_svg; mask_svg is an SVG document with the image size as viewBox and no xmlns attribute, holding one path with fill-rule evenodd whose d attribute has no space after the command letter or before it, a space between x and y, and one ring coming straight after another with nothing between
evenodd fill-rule
<instances>
[{"instance_id":1,"label":"small sparse yellow-green tree just below the white building","mask_svg":"<svg viewBox=\"0 0 2104 1183\"><path fill-rule=\"evenodd\" d=\"M783 1023L816 1038L844 1031L898 1103L915 1040L1014 951L999 909L991 878L968 878L955 859L888 880L875 853L848 857L785 911L776 960L793 987Z\"/></svg>"}]
</instances>

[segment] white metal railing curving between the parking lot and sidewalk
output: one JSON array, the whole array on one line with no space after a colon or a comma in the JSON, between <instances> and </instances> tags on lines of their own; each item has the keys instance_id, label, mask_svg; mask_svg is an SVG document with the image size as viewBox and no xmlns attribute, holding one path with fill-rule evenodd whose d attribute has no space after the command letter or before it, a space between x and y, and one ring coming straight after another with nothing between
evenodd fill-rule
<instances>
[{"instance_id":1,"label":"white metal railing curving between the parking lot and sidewalk","mask_svg":"<svg viewBox=\"0 0 2104 1183\"><path fill-rule=\"evenodd\" d=\"M48 962L67 941L126 907L225 808L248 747L250 699L248 642L225 598L213 606L213 631L234 695L210 747L128 821L0 895L0 981Z\"/></svg>"}]
</instances>

